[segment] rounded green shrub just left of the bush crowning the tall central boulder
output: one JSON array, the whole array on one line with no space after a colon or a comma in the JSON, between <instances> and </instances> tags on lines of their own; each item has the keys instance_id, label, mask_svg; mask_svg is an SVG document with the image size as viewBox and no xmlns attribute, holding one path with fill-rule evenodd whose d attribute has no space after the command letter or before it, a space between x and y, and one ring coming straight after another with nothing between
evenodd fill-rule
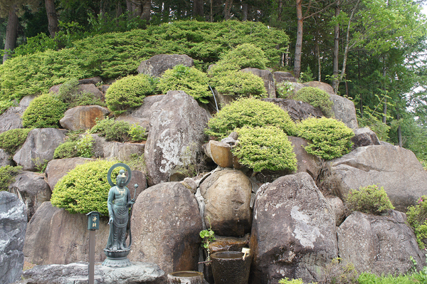
<instances>
[{"instance_id":1,"label":"rounded green shrub just left of the bush crowning the tall central boulder","mask_svg":"<svg viewBox=\"0 0 427 284\"><path fill-rule=\"evenodd\" d=\"M120 115L131 107L139 107L145 96L153 93L154 87L147 75L127 76L112 83L105 102L115 115Z\"/></svg>"}]
</instances>

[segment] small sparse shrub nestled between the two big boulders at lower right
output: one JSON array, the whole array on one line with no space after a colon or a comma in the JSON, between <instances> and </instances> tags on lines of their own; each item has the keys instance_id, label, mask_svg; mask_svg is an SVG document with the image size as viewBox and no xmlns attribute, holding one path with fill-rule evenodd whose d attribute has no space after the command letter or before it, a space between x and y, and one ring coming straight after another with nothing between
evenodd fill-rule
<instances>
[{"instance_id":1,"label":"small sparse shrub nestled between the two big boulders at lower right","mask_svg":"<svg viewBox=\"0 0 427 284\"><path fill-rule=\"evenodd\" d=\"M350 189L347 195L349 209L370 214L383 214L394 209L384 187L376 184L360 187L359 190Z\"/></svg>"}]
</instances>

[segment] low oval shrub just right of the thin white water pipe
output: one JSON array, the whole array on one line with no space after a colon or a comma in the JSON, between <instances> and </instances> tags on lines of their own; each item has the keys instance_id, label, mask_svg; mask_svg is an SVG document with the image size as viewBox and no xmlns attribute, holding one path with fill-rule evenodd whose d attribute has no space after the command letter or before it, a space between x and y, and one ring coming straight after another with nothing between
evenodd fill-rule
<instances>
[{"instance_id":1,"label":"low oval shrub just right of the thin white water pipe","mask_svg":"<svg viewBox=\"0 0 427 284\"><path fill-rule=\"evenodd\" d=\"M212 85L222 95L233 95L238 98L267 97L263 79L250 72L225 71L214 79Z\"/></svg>"}]
</instances>

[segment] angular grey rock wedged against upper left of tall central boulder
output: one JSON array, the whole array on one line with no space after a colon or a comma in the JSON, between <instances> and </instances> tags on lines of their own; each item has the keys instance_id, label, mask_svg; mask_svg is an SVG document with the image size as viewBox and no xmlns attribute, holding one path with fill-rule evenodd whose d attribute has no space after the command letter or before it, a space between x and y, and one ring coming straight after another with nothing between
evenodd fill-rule
<instances>
[{"instance_id":1,"label":"angular grey rock wedged against upper left of tall central boulder","mask_svg":"<svg viewBox=\"0 0 427 284\"><path fill-rule=\"evenodd\" d=\"M164 95L149 95L144 98L144 102L142 102L140 107L133 110L127 110L127 112L117 117L116 120L125 120L131 124L136 123L137 125L144 127L147 132L149 132L149 117L155 110L155 107L152 108L152 105L156 104L156 102L159 102L163 98Z\"/></svg>"}]
</instances>

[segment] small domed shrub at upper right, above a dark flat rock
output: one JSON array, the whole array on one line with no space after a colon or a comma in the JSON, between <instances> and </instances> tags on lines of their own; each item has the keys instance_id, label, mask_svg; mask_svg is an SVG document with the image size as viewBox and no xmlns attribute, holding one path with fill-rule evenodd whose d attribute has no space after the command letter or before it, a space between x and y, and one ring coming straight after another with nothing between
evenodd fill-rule
<instances>
[{"instance_id":1,"label":"small domed shrub at upper right, above a dark flat rock","mask_svg":"<svg viewBox=\"0 0 427 284\"><path fill-rule=\"evenodd\" d=\"M298 90L297 94L292 97L292 99L308 102L313 107L319 107L325 116L332 116L332 105L334 105L334 102L330 100L330 95L324 90L314 87L305 87Z\"/></svg>"}]
</instances>

